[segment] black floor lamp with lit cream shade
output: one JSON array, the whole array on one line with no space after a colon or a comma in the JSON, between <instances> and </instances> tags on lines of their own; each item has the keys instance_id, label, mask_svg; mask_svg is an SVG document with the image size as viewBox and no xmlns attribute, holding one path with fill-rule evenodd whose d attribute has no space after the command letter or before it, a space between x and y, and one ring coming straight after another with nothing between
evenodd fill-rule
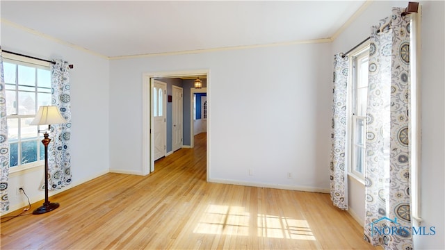
<instances>
[{"instance_id":1,"label":"black floor lamp with lit cream shade","mask_svg":"<svg viewBox=\"0 0 445 250\"><path fill-rule=\"evenodd\" d=\"M31 122L31 125L48 125L48 131L51 129L51 124L63 124L67 121L60 115L56 106L40 106L37 115ZM39 130L40 133L40 130ZM45 130L43 134L42 143L44 145L44 203L39 208L33 211L34 215L48 213L56 208L59 204L48 201L48 144L51 142L48 132Z\"/></svg>"}]
</instances>

